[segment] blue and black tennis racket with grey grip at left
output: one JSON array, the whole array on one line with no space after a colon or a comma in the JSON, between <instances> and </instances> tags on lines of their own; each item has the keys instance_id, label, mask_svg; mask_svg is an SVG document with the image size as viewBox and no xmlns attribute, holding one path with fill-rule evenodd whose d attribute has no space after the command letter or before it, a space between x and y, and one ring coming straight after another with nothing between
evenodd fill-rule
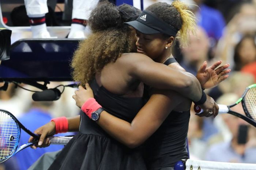
<instances>
[{"instance_id":1,"label":"blue and black tennis racket with grey grip at left","mask_svg":"<svg viewBox=\"0 0 256 170\"><path fill-rule=\"evenodd\" d=\"M39 136L25 128L10 112L0 109L0 163L11 158L19 151L35 144L38 140L19 146L20 128L39 140ZM65 145L72 137L50 137L51 144Z\"/></svg>"}]
</instances>

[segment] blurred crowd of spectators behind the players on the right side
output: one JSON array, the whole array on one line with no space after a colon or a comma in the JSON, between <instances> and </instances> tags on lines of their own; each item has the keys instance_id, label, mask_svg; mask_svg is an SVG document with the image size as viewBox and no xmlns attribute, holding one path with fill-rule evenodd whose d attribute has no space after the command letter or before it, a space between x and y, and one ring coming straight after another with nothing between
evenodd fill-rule
<instances>
[{"instance_id":1,"label":"blurred crowd of spectators behind the players on the right side","mask_svg":"<svg viewBox=\"0 0 256 170\"><path fill-rule=\"evenodd\" d=\"M256 1L194 0L191 4L197 5L192 8L197 33L190 35L188 47L176 46L174 56L194 75L204 61L229 63L229 78L206 92L217 103L231 105L256 82ZM232 109L244 114L241 104ZM188 141L192 159L256 163L256 128L230 114L201 118L191 109Z\"/></svg>"}]
</instances>

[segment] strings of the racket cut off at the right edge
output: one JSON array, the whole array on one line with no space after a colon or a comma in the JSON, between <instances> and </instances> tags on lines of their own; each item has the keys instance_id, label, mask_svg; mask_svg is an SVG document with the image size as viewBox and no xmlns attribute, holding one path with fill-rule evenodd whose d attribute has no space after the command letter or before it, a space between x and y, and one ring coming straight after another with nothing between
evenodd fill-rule
<instances>
[{"instance_id":1,"label":"strings of the racket cut off at the right edge","mask_svg":"<svg viewBox=\"0 0 256 170\"><path fill-rule=\"evenodd\" d=\"M245 106L248 113L256 120L256 87L252 87L246 92Z\"/></svg>"}]
</instances>

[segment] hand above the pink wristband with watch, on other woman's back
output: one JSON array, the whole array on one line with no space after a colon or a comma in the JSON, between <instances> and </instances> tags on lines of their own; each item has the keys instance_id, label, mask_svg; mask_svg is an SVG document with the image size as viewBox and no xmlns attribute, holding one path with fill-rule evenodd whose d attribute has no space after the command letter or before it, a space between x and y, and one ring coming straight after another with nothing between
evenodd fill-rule
<instances>
[{"instance_id":1,"label":"hand above the pink wristband with watch, on other woman's back","mask_svg":"<svg viewBox=\"0 0 256 170\"><path fill-rule=\"evenodd\" d=\"M85 85L86 89L83 86L79 86L78 90L75 91L75 94L72 96L76 101L76 106L79 108L82 107L83 103L87 101L89 98L94 98L93 90L89 86L88 83Z\"/></svg>"}]
</instances>

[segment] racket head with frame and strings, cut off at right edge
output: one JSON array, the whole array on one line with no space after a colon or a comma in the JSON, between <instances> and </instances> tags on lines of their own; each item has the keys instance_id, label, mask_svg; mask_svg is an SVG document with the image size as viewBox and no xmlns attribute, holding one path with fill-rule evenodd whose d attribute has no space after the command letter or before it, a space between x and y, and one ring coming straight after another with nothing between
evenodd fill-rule
<instances>
[{"instance_id":1,"label":"racket head with frame and strings, cut off at right edge","mask_svg":"<svg viewBox=\"0 0 256 170\"><path fill-rule=\"evenodd\" d=\"M256 84L248 86L242 98L241 103L246 116L256 121Z\"/></svg>"}]
</instances>

